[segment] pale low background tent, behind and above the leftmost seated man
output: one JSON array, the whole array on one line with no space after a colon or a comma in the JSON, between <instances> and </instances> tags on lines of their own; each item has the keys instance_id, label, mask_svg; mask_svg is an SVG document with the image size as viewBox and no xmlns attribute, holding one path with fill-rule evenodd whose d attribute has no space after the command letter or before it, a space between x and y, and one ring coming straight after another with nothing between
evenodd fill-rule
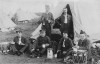
<instances>
[{"instance_id":1,"label":"pale low background tent, behind and above the leftmost seated man","mask_svg":"<svg viewBox=\"0 0 100 64\"><path fill-rule=\"evenodd\" d=\"M17 12L14 14L14 18L16 19L16 21L25 21L25 20L31 20L34 18L39 18L38 16L36 16L34 13L32 12L28 12L22 9L18 9Z\"/></svg>"}]
</instances>

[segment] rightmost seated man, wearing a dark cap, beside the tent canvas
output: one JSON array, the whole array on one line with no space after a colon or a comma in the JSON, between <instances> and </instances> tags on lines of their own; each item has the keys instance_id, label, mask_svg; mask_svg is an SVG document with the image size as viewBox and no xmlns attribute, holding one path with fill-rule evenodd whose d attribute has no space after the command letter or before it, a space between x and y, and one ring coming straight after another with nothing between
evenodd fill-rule
<instances>
[{"instance_id":1,"label":"rightmost seated man, wearing a dark cap, beside the tent canvas","mask_svg":"<svg viewBox=\"0 0 100 64\"><path fill-rule=\"evenodd\" d=\"M81 39L79 39L78 41L78 46L79 46L79 49L82 49L82 50L87 50L88 52L88 60L90 60L92 57L91 57L91 45L90 45L90 40L87 39L86 37L86 34L85 32L81 31Z\"/></svg>"}]
</instances>

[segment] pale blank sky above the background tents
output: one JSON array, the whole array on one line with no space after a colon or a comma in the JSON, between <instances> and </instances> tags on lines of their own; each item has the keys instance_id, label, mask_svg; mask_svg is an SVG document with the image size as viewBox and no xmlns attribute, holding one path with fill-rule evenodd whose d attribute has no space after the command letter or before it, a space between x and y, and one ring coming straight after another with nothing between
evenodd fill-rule
<instances>
[{"instance_id":1,"label":"pale blank sky above the background tents","mask_svg":"<svg viewBox=\"0 0 100 64\"><path fill-rule=\"evenodd\" d=\"M18 8L21 8L25 11L32 12L43 12L44 5L50 4L52 7L56 6L59 2L58 0L0 0L0 8L4 12L12 11L13 13L17 11ZM41 7L41 8L40 8ZM8 10L8 11L6 11Z\"/></svg>"}]
</instances>

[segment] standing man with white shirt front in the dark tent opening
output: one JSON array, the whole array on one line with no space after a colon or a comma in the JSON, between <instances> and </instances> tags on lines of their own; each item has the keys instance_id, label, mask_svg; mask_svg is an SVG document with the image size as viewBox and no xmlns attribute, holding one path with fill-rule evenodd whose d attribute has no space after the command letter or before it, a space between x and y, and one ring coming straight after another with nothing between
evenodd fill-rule
<instances>
[{"instance_id":1,"label":"standing man with white shirt front in the dark tent opening","mask_svg":"<svg viewBox=\"0 0 100 64\"><path fill-rule=\"evenodd\" d=\"M62 15L59 17L59 24L61 25L60 31L62 36L64 31L66 31L68 34L70 18L71 16L67 14L67 8L64 8Z\"/></svg>"}]
</instances>

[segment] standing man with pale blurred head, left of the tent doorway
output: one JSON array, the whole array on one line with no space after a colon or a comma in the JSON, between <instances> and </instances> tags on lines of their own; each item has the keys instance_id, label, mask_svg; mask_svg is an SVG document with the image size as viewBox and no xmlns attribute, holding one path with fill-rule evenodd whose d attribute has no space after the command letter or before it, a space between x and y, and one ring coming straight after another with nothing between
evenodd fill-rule
<instances>
[{"instance_id":1,"label":"standing man with pale blurred head, left of the tent doorway","mask_svg":"<svg viewBox=\"0 0 100 64\"><path fill-rule=\"evenodd\" d=\"M46 35L51 38L51 29L54 24L53 14L50 12L50 6L45 5L46 12L43 13L40 22L42 22L42 29L46 30Z\"/></svg>"}]
</instances>

